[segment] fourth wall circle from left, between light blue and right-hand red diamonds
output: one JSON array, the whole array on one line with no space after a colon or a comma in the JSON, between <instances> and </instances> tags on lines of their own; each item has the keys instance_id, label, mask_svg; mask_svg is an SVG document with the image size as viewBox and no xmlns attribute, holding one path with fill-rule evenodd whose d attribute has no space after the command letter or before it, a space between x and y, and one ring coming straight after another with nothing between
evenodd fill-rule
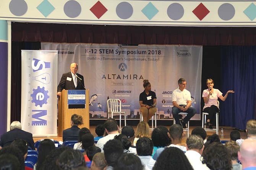
<instances>
[{"instance_id":1,"label":"fourth wall circle from left, between light blue and right-hand red diamonds","mask_svg":"<svg viewBox=\"0 0 256 170\"><path fill-rule=\"evenodd\" d=\"M173 19L173 20L181 19L184 14L184 8L179 3L172 3L167 8L167 14L170 19Z\"/></svg>"}]
</instances>

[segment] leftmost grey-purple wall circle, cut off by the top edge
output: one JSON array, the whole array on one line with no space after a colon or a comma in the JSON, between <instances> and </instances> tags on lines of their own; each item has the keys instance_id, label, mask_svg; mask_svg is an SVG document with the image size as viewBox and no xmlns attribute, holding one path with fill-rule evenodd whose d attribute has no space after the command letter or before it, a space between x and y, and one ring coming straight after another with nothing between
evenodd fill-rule
<instances>
[{"instance_id":1,"label":"leftmost grey-purple wall circle, cut off by the top edge","mask_svg":"<svg viewBox=\"0 0 256 170\"><path fill-rule=\"evenodd\" d=\"M11 0L9 9L16 16L24 15L28 10L28 5L24 0Z\"/></svg>"}]
</instances>

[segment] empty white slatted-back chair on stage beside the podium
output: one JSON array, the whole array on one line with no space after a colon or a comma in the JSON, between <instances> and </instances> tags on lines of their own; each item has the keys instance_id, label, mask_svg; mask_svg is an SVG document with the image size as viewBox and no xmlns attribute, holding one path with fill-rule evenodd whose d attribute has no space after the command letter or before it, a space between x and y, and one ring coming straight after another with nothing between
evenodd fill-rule
<instances>
[{"instance_id":1,"label":"empty white slatted-back chair on stage beside the podium","mask_svg":"<svg viewBox=\"0 0 256 170\"><path fill-rule=\"evenodd\" d=\"M121 118L122 114L125 116L125 126L126 126L126 112L122 112L121 109L121 100L120 99L108 99L107 100L107 117L109 119L109 114L111 114L111 118L113 118L113 114L119 114L119 130L122 130L121 127Z\"/></svg>"}]
</instances>

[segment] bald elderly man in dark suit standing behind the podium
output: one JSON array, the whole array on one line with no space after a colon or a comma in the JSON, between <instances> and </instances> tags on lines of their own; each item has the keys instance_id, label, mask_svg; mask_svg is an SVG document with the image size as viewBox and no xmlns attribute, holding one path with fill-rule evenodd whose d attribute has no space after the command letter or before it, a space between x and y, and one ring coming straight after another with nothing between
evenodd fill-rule
<instances>
[{"instance_id":1,"label":"bald elderly man in dark suit standing behind the podium","mask_svg":"<svg viewBox=\"0 0 256 170\"><path fill-rule=\"evenodd\" d=\"M77 73L78 64L70 65L70 72L64 73L58 85L57 95L60 96L63 89L65 90L85 90L84 77Z\"/></svg>"}]
</instances>

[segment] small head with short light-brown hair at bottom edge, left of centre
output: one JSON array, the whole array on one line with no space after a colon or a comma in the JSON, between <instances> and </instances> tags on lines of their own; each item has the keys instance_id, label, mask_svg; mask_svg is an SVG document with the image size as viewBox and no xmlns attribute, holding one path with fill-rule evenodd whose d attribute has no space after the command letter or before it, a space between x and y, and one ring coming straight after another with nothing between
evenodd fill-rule
<instances>
[{"instance_id":1,"label":"small head with short light-brown hair at bottom edge, left of centre","mask_svg":"<svg viewBox=\"0 0 256 170\"><path fill-rule=\"evenodd\" d=\"M104 153L96 153L92 158L91 170L105 170L106 167Z\"/></svg>"}]
</instances>

